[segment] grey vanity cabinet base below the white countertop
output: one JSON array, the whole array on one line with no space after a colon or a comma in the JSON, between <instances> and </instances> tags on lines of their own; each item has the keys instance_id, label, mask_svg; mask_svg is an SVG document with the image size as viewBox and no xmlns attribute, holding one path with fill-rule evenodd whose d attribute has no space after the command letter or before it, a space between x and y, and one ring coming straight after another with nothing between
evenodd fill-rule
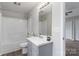
<instances>
[{"instance_id":1,"label":"grey vanity cabinet base below the white countertop","mask_svg":"<svg viewBox=\"0 0 79 59\"><path fill-rule=\"evenodd\" d=\"M36 46L32 42L28 41L28 55L29 56L52 56L52 45L53 43L48 43L41 46Z\"/></svg>"}]
</instances>

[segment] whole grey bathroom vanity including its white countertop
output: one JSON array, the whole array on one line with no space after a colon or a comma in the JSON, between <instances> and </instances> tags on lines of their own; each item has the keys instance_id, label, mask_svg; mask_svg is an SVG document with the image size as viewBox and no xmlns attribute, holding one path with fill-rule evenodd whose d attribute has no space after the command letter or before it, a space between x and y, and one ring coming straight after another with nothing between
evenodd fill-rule
<instances>
[{"instance_id":1,"label":"whole grey bathroom vanity including its white countertop","mask_svg":"<svg viewBox=\"0 0 79 59\"><path fill-rule=\"evenodd\" d=\"M47 41L46 38L30 37L27 38L28 56L52 56L53 42Z\"/></svg>"}]
</instances>

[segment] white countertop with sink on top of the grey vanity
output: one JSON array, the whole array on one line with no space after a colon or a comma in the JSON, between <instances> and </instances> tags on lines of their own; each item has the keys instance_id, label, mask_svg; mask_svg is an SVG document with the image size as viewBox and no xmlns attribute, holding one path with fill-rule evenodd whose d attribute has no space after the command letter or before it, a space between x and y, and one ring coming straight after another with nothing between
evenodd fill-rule
<instances>
[{"instance_id":1,"label":"white countertop with sink on top of the grey vanity","mask_svg":"<svg viewBox=\"0 0 79 59\"><path fill-rule=\"evenodd\" d=\"M30 42L32 42L33 44L35 44L36 46L42 46L42 45L45 45L45 44L48 44L48 43L53 43L52 40L50 41L47 41L46 38L40 38L40 37L29 37L29 38L26 38L27 40L29 40Z\"/></svg>"}]
</instances>

